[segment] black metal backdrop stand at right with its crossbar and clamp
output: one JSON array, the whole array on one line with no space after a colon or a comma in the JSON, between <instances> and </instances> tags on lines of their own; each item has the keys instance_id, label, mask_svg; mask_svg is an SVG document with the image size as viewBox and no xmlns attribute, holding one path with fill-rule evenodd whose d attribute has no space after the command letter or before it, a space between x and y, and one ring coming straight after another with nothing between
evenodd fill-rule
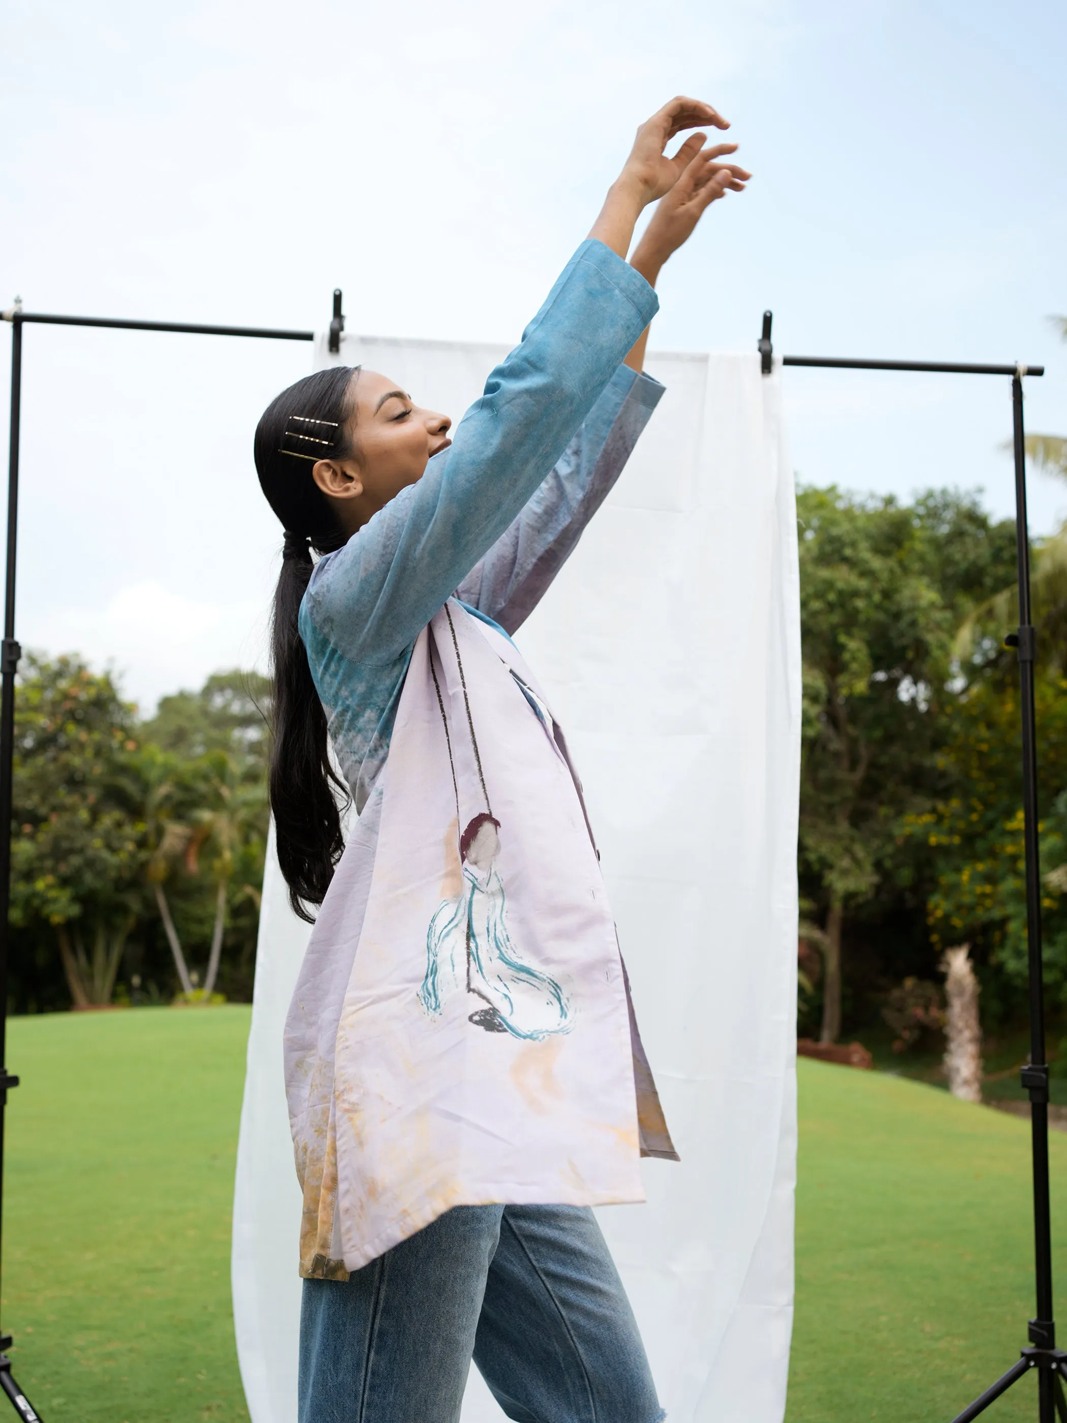
<instances>
[{"instance_id":1,"label":"black metal backdrop stand at right with its crossbar and clamp","mask_svg":"<svg viewBox=\"0 0 1067 1423\"><path fill-rule=\"evenodd\" d=\"M773 363L771 313L763 313L758 342L761 370ZM1037 1369L1039 1423L1067 1423L1060 1376L1067 1377L1067 1353L1056 1348L1053 1322L1053 1244L1049 1215L1049 1066L1044 1060L1044 975L1041 969L1041 872L1037 847L1037 730L1034 724L1036 633L1030 622L1030 536L1026 517L1026 444L1023 440L1023 376L1044 376L1043 366L973 366L943 361L846 360L824 356L782 356L782 366L819 366L838 370L915 370L955 376L1010 376L1012 424L1016 465L1016 576L1019 582L1019 628L1004 642L1017 649L1020 716L1023 723L1023 815L1026 845L1026 938L1030 983L1030 1062L1021 1070L1030 1093L1030 1136L1034 1195L1034 1276L1037 1313L1030 1321L1030 1348L986 1392L959 1413L953 1423L969 1423L1012 1387L1030 1369Z\"/></svg>"}]
</instances>

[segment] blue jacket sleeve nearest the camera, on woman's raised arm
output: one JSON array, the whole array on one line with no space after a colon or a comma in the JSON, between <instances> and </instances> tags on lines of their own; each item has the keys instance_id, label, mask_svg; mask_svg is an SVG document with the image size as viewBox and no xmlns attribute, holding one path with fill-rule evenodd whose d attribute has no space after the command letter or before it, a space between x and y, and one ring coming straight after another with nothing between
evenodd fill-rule
<instances>
[{"instance_id":1,"label":"blue jacket sleeve nearest the camera, on woman's raised arm","mask_svg":"<svg viewBox=\"0 0 1067 1423\"><path fill-rule=\"evenodd\" d=\"M300 632L327 712L341 692L334 657L360 665L361 682L371 663L383 672L397 657L405 663L421 629L565 454L657 305L622 258L583 242L452 447L319 562Z\"/></svg>"}]
</instances>

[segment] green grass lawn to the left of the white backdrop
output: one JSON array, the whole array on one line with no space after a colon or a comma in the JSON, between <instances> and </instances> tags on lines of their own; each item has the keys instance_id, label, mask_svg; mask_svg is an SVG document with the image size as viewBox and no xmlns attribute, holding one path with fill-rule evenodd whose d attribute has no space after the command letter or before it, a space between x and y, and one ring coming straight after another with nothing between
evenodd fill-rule
<instances>
[{"instance_id":1,"label":"green grass lawn to the left of the white backdrop","mask_svg":"<svg viewBox=\"0 0 1067 1423\"><path fill-rule=\"evenodd\" d=\"M249 1017L11 1020L3 1321L46 1423L248 1419L229 1232Z\"/></svg>"}]
</instances>

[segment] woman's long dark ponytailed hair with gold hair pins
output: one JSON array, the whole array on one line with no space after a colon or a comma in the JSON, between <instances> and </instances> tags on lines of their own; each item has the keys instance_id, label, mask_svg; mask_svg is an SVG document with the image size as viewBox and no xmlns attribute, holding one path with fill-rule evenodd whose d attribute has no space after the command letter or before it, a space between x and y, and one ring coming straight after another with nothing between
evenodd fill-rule
<instances>
[{"instance_id":1,"label":"woman's long dark ponytailed hair with gold hair pins","mask_svg":"<svg viewBox=\"0 0 1067 1423\"><path fill-rule=\"evenodd\" d=\"M312 468L320 454L344 460L353 453L356 370L331 366L297 380L270 401L256 427L259 484L286 531L270 629L275 679L270 810L289 902L309 924L314 916L307 905L323 902L344 848L340 805L347 804L349 793L330 766L326 713L314 690L297 616L314 566L312 549L331 554L347 538L312 478ZM302 441L294 430L326 435L326 441ZM294 453L300 448L312 454Z\"/></svg>"}]
</instances>

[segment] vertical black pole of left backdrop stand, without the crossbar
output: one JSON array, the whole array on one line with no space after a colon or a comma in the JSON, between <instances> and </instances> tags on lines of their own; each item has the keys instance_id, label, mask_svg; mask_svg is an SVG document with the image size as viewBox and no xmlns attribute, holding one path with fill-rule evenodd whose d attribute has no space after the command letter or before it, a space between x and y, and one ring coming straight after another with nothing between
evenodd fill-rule
<instances>
[{"instance_id":1,"label":"vertical black pole of left backdrop stand, without the crossbar","mask_svg":"<svg viewBox=\"0 0 1067 1423\"><path fill-rule=\"evenodd\" d=\"M17 1087L7 1067L7 956L11 905L11 794L14 771L14 675L21 649L14 640L14 564L18 538L18 421L23 390L23 322L11 319L11 443L7 464L7 571L4 578L4 638L0 643L0 1242L3 1241L4 1113L9 1087ZM0 1335L0 1389L26 1423L38 1423L30 1400L11 1377L7 1349L10 1335Z\"/></svg>"}]
</instances>

